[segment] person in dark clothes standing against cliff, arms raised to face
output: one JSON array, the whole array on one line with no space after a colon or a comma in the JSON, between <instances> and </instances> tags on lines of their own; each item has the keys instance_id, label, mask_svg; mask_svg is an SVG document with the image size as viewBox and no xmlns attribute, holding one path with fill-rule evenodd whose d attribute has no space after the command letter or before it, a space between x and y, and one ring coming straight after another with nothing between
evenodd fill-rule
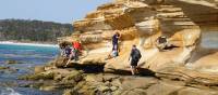
<instances>
[{"instance_id":1,"label":"person in dark clothes standing against cliff, arms raised to face","mask_svg":"<svg viewBox=\"0 0 218 95\"><path fill-rule=\"evenodd\" d=\"M112 51L113 50L117 50L119 51L119 44L118 44L118 41L120 39L120 33L119 32L116 32L113 36L112 36Z\"/></svg>"}]
</instances>

